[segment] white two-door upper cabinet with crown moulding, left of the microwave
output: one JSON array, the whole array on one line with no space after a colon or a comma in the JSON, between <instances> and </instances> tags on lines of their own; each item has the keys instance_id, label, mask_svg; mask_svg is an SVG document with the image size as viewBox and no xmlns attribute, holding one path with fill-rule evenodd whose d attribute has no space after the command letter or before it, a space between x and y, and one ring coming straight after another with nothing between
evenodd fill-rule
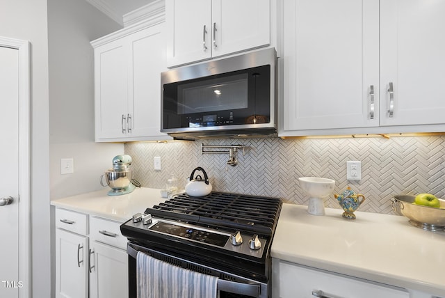
<instances>
[{"instance_id":1,"label":"white two-door upper cabinet with crown moulding, left of the microwave","mask_svg":"<svg viewBox=\"0 0 445 298\"><path fill-rule=\"evenodd\" d=\"M96 141L171 139L161 130L164 24L122 29L95 48Z\"/></svg>"}]
</instances>

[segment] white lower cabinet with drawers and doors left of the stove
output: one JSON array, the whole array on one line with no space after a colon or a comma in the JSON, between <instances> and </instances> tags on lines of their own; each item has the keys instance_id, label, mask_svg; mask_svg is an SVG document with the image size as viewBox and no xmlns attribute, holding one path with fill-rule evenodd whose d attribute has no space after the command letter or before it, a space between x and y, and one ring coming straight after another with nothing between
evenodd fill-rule
<instances>
[{"instance_id":1,"label":"white lower cabinet with drawers and doors left of the stove","mask_svg":"<svg viewBox=\"0 0 445 298\"><path fill-rule=\"evenodd\" d=\"M121 223L61 208L55 218L56 298L127 298Z\"/></svg>"}]
</instances>

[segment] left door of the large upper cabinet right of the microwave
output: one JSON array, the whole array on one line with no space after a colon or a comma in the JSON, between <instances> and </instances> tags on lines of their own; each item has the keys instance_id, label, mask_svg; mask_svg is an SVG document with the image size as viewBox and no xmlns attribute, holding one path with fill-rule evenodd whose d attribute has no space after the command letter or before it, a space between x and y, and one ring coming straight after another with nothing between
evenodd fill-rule
<instances>
[{"instance_id":1,"label":"left door of the large upper cabinet right of the microwave","mask_svg":"<svg viewBox=\"0 0 445 298\"><path fill-rule=\"evenodd\" d=\"M379 125L378 4L284 0L284 131Z\"/></svg>"}]
</instances>

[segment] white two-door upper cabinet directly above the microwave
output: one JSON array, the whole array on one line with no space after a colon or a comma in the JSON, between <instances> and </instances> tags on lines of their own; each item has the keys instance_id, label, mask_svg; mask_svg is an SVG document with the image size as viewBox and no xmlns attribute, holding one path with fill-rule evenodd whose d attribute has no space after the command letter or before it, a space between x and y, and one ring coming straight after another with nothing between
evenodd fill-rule
<instances>
[{"instance_id":1,"label":"white two-door upper cabinet directly above the microwave","mask_svg":"<svg viewBox=\"0 0 445 298\"><path fill-rule=\"evenodd\" d=\"M168 66L270 44L273 0L166 0Z\"/></svg>"}]
</instances>

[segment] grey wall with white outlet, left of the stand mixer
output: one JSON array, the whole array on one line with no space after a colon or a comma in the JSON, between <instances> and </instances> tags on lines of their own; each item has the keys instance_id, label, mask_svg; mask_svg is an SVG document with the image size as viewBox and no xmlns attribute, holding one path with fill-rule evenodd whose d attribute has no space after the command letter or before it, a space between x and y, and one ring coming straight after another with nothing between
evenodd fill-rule
<instances>
[{"instance_id":1,"label":"grey wall with white outlet, left of the stand mixer","mask_svg":"<svg viewBox=\"0 0 445 298\"><path fill-rule=\"evenodd\" d=\"M86 1L48 0L49 175L51 200L102 189L99 177L122 144L95 143L91 40L121 27ZM74 173L60 175L60 159Z\"/></svg>"}]
</instances>

